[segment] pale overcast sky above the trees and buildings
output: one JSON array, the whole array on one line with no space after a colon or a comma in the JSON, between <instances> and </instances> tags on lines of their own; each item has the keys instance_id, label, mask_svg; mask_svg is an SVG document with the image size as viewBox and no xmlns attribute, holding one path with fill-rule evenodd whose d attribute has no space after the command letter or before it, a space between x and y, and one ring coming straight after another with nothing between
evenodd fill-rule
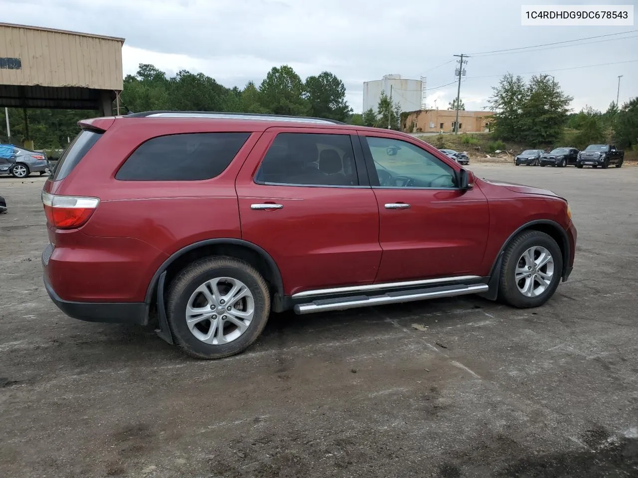
<instances>
[{"instance_id":1,"label":"pale overcast sky above the trees and buildings","mask_svg":"<svg viewBox=\"0 0 638 478\"><path fill-rule=\"evenodd\" d=\"M638 13L636 2L628 0L538 3L625 3L634 4ZM0 0L0 12L3 22L125 38L124 74L135 73L144 62L169 75L202 71L227 87L243 87L249 80L260 83L281 64L292 66L302 79L332 71L345 83L355 112L362 108L363 82L386 74L426 76L429 88L454 81L454 54L638 29L524 27L521 2L513 0ZM585 105L605 110L616 99L618 75L624 75L622 104L638 96L638 32L625 36L633 38L471 57L461 98L466 109L479 110L503 73L528 78L551 70L547 73L574 96L575 111ZM625 63L567 69L616 62ZM436 100L446 108L455 96L456 85L449 85L429 91L427 103L433 107Z\"/></svg>"}]
</instances>

